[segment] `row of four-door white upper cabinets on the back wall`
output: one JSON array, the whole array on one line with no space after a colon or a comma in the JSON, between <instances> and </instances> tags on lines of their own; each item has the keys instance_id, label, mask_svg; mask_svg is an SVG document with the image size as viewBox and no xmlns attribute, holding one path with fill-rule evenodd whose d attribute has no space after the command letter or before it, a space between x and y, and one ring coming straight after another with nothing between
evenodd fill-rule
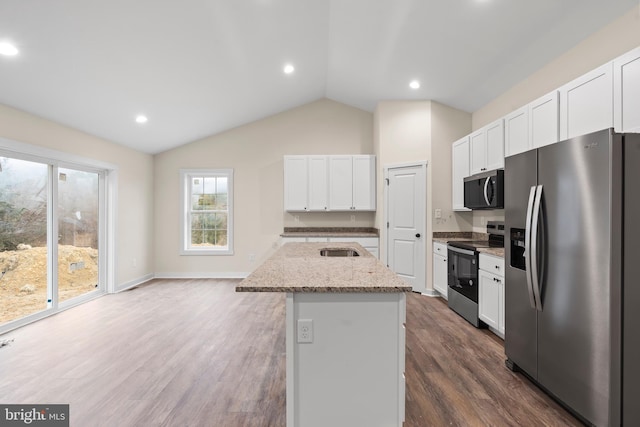
<instances>
[{"instance_id":1,"label":"row of four-door white upper cabinets on the back wall","mask_svg":"<svg viewBox=\"0 0 640 427\"><path fill-rule=\"evenodd\" d=\"M374 211L375 159L371 155L284 156L284 209Z\"/></svg>"}]
</instances>

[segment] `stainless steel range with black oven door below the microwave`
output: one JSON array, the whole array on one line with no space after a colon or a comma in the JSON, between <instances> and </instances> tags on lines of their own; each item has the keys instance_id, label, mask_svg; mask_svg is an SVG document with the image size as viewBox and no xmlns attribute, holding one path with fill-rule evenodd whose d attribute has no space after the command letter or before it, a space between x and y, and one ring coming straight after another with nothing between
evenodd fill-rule
<instances>
[{"instance_id":1,"label":"stainless steel range with black oven door below the microwave","mask_svg":"<svg viewBox=\"0 0 640 427\"><path fill-rule=\"evenodd\" d=\"M476 328L486 325L478 318L478 249L504 247L504 223L489 221L488 240L447 242L447 297L449 308Z\"/></svg>"}]
</instances>

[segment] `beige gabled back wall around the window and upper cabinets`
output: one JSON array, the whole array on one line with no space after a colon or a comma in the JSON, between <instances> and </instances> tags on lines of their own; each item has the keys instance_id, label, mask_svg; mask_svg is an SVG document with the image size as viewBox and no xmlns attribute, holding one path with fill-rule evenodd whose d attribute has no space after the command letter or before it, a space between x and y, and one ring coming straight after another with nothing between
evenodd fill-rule
<instances>
[{"instance_id":1,"label":"beige gabled back wall around the window and upper cabinets","mask_svg":"<svg viewBox=\"0 0 640 427\"><path fill-rule=\"evenodd\" d=\"M279 244L286 227L374 225L374 214L300 213L283 209L283 156L372 154L373 115L321 99L155 156L156 274L158 277L243 276ZM180 256L179 170L234 170L232 256ZM255 254L255 261L249 260Z\"/></svg>"}]
</instances>

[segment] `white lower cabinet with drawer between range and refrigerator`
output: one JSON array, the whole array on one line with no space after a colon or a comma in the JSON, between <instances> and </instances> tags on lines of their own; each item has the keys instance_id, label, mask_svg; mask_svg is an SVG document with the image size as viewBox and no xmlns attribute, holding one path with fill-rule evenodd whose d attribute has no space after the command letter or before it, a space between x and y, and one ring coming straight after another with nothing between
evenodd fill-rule
<instances>
[{"instance_id":1,"label":"white lower cabinet with drawer between range and refrigerator","mask_svg":"<svg viewBox=\"0 0 640 427\"><path fill-rule=\"evenodd\" d=\"M504 338L504 259L480 254L478 317Z\"/></svg>"}]
</instances>

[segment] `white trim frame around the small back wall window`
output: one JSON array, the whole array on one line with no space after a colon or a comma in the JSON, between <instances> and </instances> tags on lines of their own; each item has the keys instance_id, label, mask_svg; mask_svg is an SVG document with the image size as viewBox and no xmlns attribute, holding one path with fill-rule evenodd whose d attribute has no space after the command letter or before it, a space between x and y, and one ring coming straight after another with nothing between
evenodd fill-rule
<instances>
[{"instance_id":1,"label":"white trim frame around the small back wall window","mask_svg":"<svg viewBox=\"0 0 640 427\"><path fill-rule=\"evenodd\" d=\"M192 175L226 176L228 178L229 195L227 203L229 216L227 218L227 247L190 249L191 233L189 227L189 180ZM180 255L233 255L233 169L180 169Z\"/></svg>"}]
</instances>

